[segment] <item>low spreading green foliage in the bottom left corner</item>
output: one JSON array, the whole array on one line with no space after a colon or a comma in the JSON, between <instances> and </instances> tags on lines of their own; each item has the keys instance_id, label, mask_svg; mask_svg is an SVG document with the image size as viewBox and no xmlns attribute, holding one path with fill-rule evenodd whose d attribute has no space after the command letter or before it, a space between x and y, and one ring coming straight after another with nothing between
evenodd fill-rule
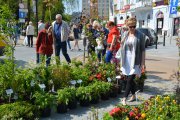
<instances>
[{"instance_id":1,"label":"low spreading green foliage in the bottom left corner","mask_svg":"<svg viewBox=\"0 0 180 120\"><path fill-rule=\"evenodd\" d=\"M17 120L35 118L35 107L27 102L15 102L11 104L0 105L0 119L1 120Z\"/></svg>"}]
</instances>

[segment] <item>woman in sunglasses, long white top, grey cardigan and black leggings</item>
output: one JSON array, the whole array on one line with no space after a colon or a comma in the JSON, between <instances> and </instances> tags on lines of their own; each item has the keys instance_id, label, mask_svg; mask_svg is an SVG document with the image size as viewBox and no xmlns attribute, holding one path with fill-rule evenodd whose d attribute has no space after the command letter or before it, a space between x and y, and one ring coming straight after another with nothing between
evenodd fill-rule
<instances>
[{"instance_id":1,"label":"woman in sunglasses, long white top, grey cardigan and black leggings","mask_svg":"<svg viewBox=\"0 0 180 120\"><path fill-rule=\"evenodd\" d=\"M132 96L128 100L135 100L135 77L140 77L141 70L145 66L145 36L136 30L136 18L129 18L127 21L128 31L121 41L121 71L126 76L127 84L122 99L122 104L126 105L126 99L131 92Z\"/></svg>"}]
</instances>

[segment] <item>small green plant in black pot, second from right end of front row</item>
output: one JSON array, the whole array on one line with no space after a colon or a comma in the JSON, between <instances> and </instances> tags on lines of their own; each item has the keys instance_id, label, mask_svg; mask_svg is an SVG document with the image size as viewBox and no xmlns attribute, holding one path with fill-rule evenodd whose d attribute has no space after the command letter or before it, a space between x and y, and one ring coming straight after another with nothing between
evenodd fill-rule
<instances>
[{"instance_id":1,"label":"small green plant in black pot, second from right end of front row","mask_svg":"<svg viewBox=\"0 0 180 120\"><path fill-rule=\"evenodd\" d=\"M101 94L102 100L108 100L109 99L111 86L112 86L112 83L109 83L109 82L102 82L101 83L100 94Z\"/></svg>"}]
</instances>

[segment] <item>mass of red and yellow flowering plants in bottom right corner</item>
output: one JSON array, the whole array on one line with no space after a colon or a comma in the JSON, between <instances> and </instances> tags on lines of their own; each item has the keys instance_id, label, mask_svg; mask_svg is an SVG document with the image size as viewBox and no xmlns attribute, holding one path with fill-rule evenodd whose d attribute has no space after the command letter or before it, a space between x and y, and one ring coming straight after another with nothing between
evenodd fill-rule
<instances>
[{"instance_id":1,"label":"mass of red and yellow flowering plants in bottom right corner","mask_svg":"<svg viewBox=\"0 0 180 120\"><path fill-rule=\"evenodd\" d=\"M138 106L118 105L103 120L179 120L179 116L175 95L157 95Z\"/></svg>"}]
</instances>

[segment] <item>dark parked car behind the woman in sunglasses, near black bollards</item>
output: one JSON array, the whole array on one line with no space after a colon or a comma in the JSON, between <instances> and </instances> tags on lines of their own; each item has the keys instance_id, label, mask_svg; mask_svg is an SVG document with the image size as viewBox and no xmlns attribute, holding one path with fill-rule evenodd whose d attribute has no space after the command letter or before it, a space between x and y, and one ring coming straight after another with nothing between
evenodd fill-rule
<instances>
[{"instance_id":1,"label":"dark parked car behind the woman in sunglasses, near black bollards","mask_svg":"<svg viewBox=\"0 0 180 120\"><path fill-rule=\"evenodd\" d=\"M146 47L151 46L158 41L158 36L156 32L151 28L137 28L138 31L146 35Z\"/></svg>"}]
</instances>

